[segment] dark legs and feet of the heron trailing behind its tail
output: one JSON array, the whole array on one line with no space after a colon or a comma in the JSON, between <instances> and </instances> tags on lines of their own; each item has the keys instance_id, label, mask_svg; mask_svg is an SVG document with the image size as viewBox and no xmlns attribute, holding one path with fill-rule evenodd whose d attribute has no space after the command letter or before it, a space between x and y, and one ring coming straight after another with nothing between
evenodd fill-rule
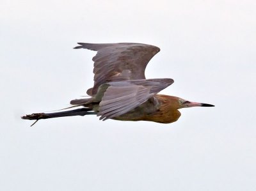
<instances>
[{"instance_id":1,"label":"dark legs and feet of the heron trailing behind its tail","mask_svg":"<svg viewBox=\"0 0 256 191\"><path fill-rule=\"evenodd\" d=\"M89 108L81 108L81 109L74 109L70 111L62 111L62 112L53 112L53 113L34 113L29 114L26 116L22 116L22 119L29 119L29 120L36 120L35 123L39 119L49 119L49 118L60 118L60 117L67 117L67 116L85 116L88 114L97 114L97 112L92 111ZM35 125L33 123L31 126Z\"/></svg>"}]
</instances>

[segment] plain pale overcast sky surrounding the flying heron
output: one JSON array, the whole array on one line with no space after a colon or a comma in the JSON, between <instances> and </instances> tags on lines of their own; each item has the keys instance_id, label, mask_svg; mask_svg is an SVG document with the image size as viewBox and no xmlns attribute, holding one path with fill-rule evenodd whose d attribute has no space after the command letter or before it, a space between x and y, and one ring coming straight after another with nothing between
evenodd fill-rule
<instances>
[{"instance_id":1,"label":"plain pale overcast sky surrounding the flying heron","mask_svg":"<svg viewBox=\"0 0 256 191\"><path fill-rule=\"evenodd\" d=\"M0 190L256 190L256 1L1 0ZM161 48L147 78L216 107L176 123L32 121L93 85L77 42Z\"/></svg>"}]
</instances>

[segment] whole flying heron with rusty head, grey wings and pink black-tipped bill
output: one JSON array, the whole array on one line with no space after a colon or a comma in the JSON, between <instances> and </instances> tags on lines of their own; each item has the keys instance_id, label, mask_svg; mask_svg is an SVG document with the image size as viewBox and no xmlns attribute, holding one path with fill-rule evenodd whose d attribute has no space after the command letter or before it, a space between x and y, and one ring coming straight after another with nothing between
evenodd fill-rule
<instances>
[{"instance_id":1,"label":"whole flying heron with rusty head, grey wings and pink black-tipped bill","mask_svg":"<svg viewBox=\"0 0 256 191\"><path fill-rule=\"evenodd\" d=\"M179 109L213 107L207 103L189 102L177 96L161 95L159 91L173 84L173 79L146 79L145 68L160 49L142 43L78 43L74 49L97 51L94 61L94 85L88 98L72 100L74 110L34 113L22 119L36 120L93 114L99 119L120 121L154 121L173 123L180 117ZM35 123L36 123L35 121ZM33 125L35 124L33 123ZM32 126L32 125L31 125Z\"/></svg>"}]
</instances>

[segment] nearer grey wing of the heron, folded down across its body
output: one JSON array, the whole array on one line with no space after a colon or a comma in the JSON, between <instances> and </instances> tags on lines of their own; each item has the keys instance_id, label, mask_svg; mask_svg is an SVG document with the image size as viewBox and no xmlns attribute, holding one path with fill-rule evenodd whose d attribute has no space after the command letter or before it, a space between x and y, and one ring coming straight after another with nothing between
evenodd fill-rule
<instances>
[{"instance_id":1,"label":"nearer grey wing of the heron, folded down across its body","mask_svg":"<svg viewBox=\"0 0 256 191\"><path fill-rule=\"evenodd\" d=\"M142 79L102 84L95 96L101 99L97 115L105 120L125 114L172 83L173 79Z\"/></svg>"}]
</instances>

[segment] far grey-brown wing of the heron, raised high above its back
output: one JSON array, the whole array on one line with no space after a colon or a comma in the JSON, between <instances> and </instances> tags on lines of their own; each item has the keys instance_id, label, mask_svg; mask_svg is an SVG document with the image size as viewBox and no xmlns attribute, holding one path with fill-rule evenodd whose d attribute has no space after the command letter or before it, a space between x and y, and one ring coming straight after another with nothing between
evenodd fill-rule
<instances>
[{"instance_id":1,"label":"far grey-brown wing of the heron, raised high above its back","mask_svg":"<svg viewBox=\"0 0 256 191\"><path fill-rule=\"evenodd\" d=\"M88 95L95 95L101 84L124 80L145 79L148 61L157 52L158 47L141 43L78 43L74 49L97 51L94 61L94 86L88 89Z\"/></svg>"}]
</instances>

